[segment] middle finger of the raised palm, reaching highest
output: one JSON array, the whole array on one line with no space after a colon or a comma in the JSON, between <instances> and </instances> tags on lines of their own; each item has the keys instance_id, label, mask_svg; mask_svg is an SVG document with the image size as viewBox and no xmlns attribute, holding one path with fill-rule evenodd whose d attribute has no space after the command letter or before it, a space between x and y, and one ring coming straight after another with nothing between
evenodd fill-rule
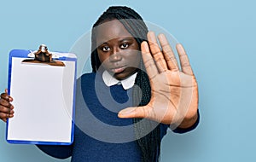
<instances>
[{"instance_id":1,"label":"middle finger of the raised palm, reaching highest","mask_svg":"<svg viewBox=\"0 0 256 162\"><path fill-rule=\"evenodd\" d=\"M166 60L157 43L154 32L148 32L148 44L159 72L165 72L168 70Z\"/></svg>"}]
</instances>

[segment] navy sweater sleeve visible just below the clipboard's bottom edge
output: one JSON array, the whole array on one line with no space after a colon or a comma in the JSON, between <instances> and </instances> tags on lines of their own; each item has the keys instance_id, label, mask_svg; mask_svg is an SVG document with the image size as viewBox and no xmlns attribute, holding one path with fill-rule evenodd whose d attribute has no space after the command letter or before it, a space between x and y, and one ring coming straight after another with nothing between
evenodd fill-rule
<instances>
[{"instance_id":1,"label":"navy sweater sleeve visible just below the clipboard's bottom edge","mask_svg":"<svg viewBox=\"0 0 256 162\"><path fill-rule=\"evenodd\" d=\"M57 159L67 159L72 155L73 144L71 145L37 145L37 147L49 156Z\"/></svg>"}]
</instances>

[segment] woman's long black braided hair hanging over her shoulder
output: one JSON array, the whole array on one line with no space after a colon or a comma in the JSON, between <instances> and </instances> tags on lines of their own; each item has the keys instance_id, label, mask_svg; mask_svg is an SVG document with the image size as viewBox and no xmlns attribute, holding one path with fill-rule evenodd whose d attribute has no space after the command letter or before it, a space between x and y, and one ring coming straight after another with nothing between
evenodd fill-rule
<instances>
[{"instance_id":1,"label":"woman's long black braided hair hanging over her shoulder","mask_svg":"<svg viewBox=\"0 0 256 162\"><path fill-rule=\"evenodd\" d=\"M131 33L131 36L140 44L147 41L148 27L145 25L142 17L131 8L125 6L109 7L93 25L91 32L91 67L92 71L96 72L101 66L97 50L96 50L96 30L95 27L101 25L108 20L119 20L125 29ZM148 75L145 72L143 61L140 62L140 69L137 69L137 78L132 92L134 106L147 105L151 98L151 88ZM142 96L138 97L138 96ZM159 161L160 159L160 125L148 119L143 119L144 122L139 122L142 119L133 119L135 125L135 136L137 145L142 152L142 161ZM145 122L146 121L146 122ZM156 126L157 125L157 126ZM156 126L156 127L155 127ZM148 135L143 136L145 131L155 127ZM143 137L142 137L143 136Z\"/></svg>"}]
</instances>

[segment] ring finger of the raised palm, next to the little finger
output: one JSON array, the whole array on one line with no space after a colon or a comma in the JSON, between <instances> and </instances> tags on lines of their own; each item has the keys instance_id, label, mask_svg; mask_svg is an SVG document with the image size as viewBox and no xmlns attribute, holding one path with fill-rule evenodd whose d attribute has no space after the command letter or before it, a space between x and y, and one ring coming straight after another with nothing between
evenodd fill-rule
<instances>
[{"instance_id":1,"label":"ring finger of the raised palm, next to the little finger","mask_svg":"<svg viewBox=\"0 0 256 162\"><path fill-rule=\"evenodd\" d=\"M173 53L170 43L166 39L166 36L164 34L160 34L158 38L160 41L160 45L163 49L163 54L165 56L167 66L169 67L170 70L178 70L176 57Z\"/></svg>"}]
</instances>

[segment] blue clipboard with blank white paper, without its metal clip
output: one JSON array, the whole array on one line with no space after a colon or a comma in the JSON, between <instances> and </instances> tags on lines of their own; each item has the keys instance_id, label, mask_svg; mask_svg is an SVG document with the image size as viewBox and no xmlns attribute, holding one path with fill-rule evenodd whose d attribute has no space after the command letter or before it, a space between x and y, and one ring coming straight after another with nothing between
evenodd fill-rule
<instances>
[{"instance_id":1,"label":"blue clipboard with blank white paper, without its metal clip","mask_svg":"<svg viewBox=\"0 0 256 162\"><path fill-rule=\"evenodd\" d=\"M9 95L15 116L7 120L9 143L70 145L73 143L77 57L59 53L65 66L22 62L31 50L9 53Z\"/></svg>"}]
</instances>

